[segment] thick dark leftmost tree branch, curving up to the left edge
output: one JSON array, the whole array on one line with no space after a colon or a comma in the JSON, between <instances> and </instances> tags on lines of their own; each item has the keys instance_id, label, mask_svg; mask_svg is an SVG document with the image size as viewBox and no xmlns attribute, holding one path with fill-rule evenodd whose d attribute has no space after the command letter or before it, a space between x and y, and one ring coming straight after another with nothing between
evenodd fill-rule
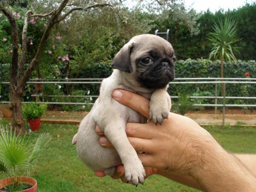
<instances>
[{"instance_id":1,"label":"thick dark leftmost tree branch, curving up to the left edge","mask_svg":"<svg viewBox=\"0 0 256 192\"><path fill-rule=\"evenodd\" d=\"M14 90L14 86L17 84L17 68L18 68L18 28L16 20L12 14L0 4L0 10L7 16L12 29L12 58L11 58L11 76L10 76L10 88Z\"/></svg>"}]
</instances>

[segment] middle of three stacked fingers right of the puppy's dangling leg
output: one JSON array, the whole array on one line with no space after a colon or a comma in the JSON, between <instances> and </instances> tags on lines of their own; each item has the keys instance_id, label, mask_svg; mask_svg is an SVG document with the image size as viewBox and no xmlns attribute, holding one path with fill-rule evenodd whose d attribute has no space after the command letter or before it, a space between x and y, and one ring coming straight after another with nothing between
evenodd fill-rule
<instances>
[{"instance_id":1,"label":"middle of three stacked fingers right of the puppy's dangling leg","mask_svg":"<svg viewBox=\"0 0 256 192\"><path fill-rule=\"evenodd\" d=\"M152 140L136 137L128 137L128 140L135 151L143 151L146 153L154 153L155 151L155 145Z\"/></svg>"}]
</instances>

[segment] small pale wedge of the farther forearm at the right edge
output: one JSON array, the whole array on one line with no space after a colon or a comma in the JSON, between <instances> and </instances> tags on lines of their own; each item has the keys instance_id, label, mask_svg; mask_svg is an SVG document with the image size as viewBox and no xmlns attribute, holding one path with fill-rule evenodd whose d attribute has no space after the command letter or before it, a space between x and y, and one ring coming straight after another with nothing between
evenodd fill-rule
<instances>
[{"instance_id":1,"label":"small pale wedge of the farther forearm at the right edge","mask_svg":"<svg viewBox=\"0 0 256 192\"><path fill-rule=\"evenodd\" d=\"M253 154L234 154L248 169L256 176L256 155Z\"/></svg>"}]
</instances>

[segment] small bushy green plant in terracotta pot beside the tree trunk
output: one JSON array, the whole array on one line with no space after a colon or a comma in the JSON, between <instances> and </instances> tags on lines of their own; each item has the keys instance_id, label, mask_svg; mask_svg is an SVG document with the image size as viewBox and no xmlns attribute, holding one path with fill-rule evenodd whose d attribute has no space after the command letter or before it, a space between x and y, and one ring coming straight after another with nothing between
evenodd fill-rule
<instances>
[{"instance_id":1,"label":"small bushy green plant in terracotta pot beside the tree trunk","mask_svg":"<svg viewBox=\"0 0 256 192\"><path fill-rule=\"evenodd\" d=\"M41 117L47 108L46 104L40 104L38 102L31 102L22 106L23 116L27 119L32 131L40 128Z\"/></svg>"}]
</instances>

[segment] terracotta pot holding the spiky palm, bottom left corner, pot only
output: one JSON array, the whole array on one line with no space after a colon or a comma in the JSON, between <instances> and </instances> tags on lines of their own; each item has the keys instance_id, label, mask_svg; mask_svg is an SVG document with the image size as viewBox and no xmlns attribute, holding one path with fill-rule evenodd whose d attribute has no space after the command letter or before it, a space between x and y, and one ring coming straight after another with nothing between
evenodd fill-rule
<instances>
[{"instance_id":1,"label":"terracotta pot holding the spiky palm, bottom left corner, pot only","mask_svg":"<svg viewBox=\"0 0 256 192\"><path fill-rule=\"evenodd\" d=\"M34 178L31 177L17 177L18 181L24 184L29 184L32 187L26 190L22 190L19 192L36 192L37 190L37 181ZM8 185L13 184L13 181L11 180L11 178L4 178L2 180L0 180L0 192L5 192L2 191L1 189L3 187L7 187Z\"/></svg>"}]
</instances>

